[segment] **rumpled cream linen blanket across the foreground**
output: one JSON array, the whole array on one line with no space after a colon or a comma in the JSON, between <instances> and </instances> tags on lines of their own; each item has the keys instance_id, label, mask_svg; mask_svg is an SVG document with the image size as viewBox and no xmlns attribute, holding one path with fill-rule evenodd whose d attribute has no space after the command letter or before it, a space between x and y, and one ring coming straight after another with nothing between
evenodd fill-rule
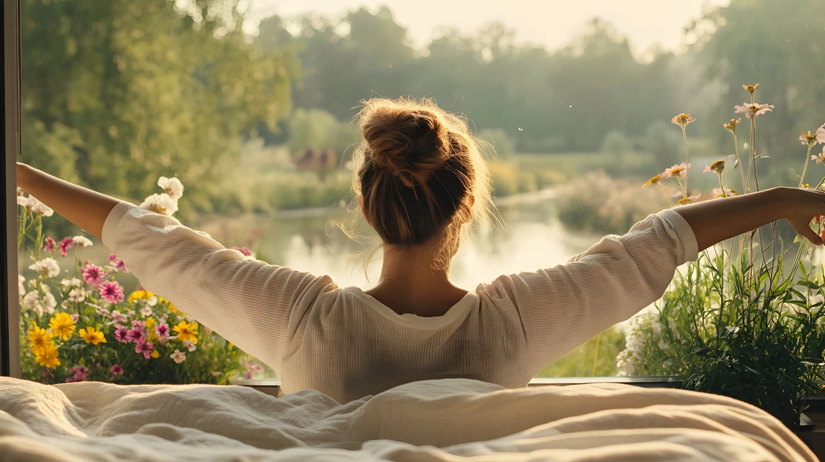
<instances>
[{"instance_id":1,"label":"rumpled cream linen blanket across the foreground","mask_svg":"<svg viewBox=\"0 0 825 462\"><path fill-rule=\"evenodd\" d=\"M339 404L240 386L0 378L0 460L817 460L745 403L594 384L430 380Z\"/></svg>"}]
</instances>

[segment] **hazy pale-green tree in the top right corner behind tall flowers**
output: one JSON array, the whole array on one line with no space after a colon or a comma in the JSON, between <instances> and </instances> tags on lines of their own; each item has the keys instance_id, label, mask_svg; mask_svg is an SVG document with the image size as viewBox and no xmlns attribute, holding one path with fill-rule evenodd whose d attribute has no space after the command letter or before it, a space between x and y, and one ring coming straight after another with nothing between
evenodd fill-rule
<instances>
[{"instance_id":1,"label":"hazy pale-green tree in the top right corner behind tall flowers","mask_svg":"<svg viewBox=\"0 0 825 462\"><path fill-rule=\"evenodd\" d=\"M722 84L719 125L733 117L734 104L750 102L742 84L760 83L756 101L776 108L757 123L757 155L771 154L759 163L776 165L789 156L804 162L790 147L800 130L825 121L825 2L733 0L695 21L688 33L697 39L706 78ZM747 125L740 130L747 133ZM716 133L729 144L720 126Z\"/></svg>"}]
</instances>

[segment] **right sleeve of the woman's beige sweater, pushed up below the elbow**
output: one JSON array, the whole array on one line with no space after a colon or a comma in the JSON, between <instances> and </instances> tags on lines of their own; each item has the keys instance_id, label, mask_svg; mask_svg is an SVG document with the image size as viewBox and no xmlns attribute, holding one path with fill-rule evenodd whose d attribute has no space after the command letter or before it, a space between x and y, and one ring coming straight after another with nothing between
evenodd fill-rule
<instances>
[{"instance_id":1,"label":"right sleeve of the woman's beige sweater, pushed up below the elbow","mask_svg":"<svg viewBox=\"0 0 825 462\"><path fill-rule=\"evenodd\" d=\"M691 225L664 210L565 265L501 276L479 291L498 309L516 309L530 367L538 372L661 298L676 266L698 253Z\"/></svg>"}]
</instances>

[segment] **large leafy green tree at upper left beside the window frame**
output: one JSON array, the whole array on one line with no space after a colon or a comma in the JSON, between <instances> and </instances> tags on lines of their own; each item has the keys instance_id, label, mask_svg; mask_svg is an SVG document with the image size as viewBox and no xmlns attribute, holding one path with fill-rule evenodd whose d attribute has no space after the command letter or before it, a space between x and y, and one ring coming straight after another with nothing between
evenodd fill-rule
<instances>
[{"instance_id":1,"label":"large leafy green tree at upper left beside the window frame","mask_svg":"<svg viewBox=\"0 0 825 462\"><path fill-rule=\"evenodd\" d=\"M240 135L291 111L295 55L248 44L238 3L24 0L23 158L132 198L177 174L209 208Z\"/></svg>"}]
</instances>

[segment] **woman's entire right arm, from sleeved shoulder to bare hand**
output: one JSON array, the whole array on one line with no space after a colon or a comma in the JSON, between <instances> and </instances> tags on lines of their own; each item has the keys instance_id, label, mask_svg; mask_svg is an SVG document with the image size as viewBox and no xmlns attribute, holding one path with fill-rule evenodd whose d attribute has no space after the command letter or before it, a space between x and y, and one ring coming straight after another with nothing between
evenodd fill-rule
<instances>
[{"instance_id":1,"label":"woman's entire right arm, from sleeved shoulder to bare hand","mask_svg":"<svg viewBox=\"0 0 825 462\"><path fill-rule=\"evenodd\" d=\"M502 312L519 314L536 372L662 297L676 267L701 250L783 218L819 245L809 224L823 214L825 193L810 190L707 200L650 215L566 265L502 276L478 292Z\"/></svg>"}]
</instances>

